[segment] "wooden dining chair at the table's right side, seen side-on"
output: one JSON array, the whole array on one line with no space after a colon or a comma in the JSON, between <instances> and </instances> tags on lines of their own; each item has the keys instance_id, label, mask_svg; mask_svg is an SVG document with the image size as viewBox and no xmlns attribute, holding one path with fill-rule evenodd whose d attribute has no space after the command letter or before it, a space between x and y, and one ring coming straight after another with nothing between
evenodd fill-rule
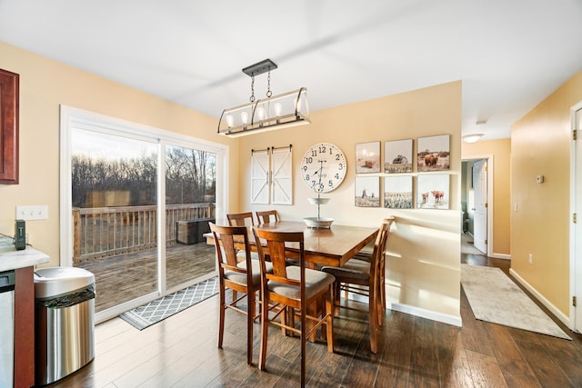
<instances>
[{"instance_id":1,"label":"wooden dining chair at the table's right side, seen side-on","mask_svg":"<svg viewBox=\"0 0 582 388\"><path fill-rule=\"evenodd\" d=\"M380 225L374 251L369 260L363 256L352 258L342 267L324 266L321 271L326 274L333 274L335 283L335 307L349 310L364 311L368 314L368 325L370 332L370 350L377 353L377 329L384 324L384 314L386 313L386 291L385 291L385 262L386 243L390 226L394 223L394 217L385 218ZM367 309L352 307L340 301L341 291L365 295L368 298ZM384 296L383 296L384 295Z\"/></svg>"}]
</instances>

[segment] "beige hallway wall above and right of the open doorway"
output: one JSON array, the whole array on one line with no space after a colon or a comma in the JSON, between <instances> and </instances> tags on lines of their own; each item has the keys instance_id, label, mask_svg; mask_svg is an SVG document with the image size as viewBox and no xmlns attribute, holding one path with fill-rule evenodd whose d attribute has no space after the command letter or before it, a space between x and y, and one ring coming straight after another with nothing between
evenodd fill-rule
<instances>
[{"instance_id":1,"label":"beige hallway wall above and right of the open doorway","mask_svg":"<svg viewBox=\"0 0 582 388\"><path fill-rule=\"evenodd\" d=\"M463 143L461 154L464 160L493 156L493 252L492 256L511 254L511 139ZM467 172L470 174L470 171Z\"/></svg>"}]
</instances>

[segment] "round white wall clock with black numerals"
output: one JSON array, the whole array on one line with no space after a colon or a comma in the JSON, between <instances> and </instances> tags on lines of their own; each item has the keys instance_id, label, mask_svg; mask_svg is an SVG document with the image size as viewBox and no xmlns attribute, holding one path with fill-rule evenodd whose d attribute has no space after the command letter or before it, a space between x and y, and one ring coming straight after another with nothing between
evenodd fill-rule
<instances>
[{"instance_id":1,"label":"round white wall clock with black numerals","mask_svg":"<svg viewBox=\"0 0 582 388\"><path fill-rule=\"evenodd\" d=\"M335 190L346 178L346 155L336 145L319 143L301 159L301 177L316 193Z\"/></svg>"}]
</instances>

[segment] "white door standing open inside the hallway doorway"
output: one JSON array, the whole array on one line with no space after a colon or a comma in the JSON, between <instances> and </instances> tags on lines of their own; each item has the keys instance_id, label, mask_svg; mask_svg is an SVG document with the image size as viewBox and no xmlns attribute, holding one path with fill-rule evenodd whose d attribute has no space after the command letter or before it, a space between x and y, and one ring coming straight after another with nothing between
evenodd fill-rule
<instances>
[{"instance_id":1,"label":"white door standing open inside the hallway doorway","mask_svg":"<svg viewBox=\"0 0 582 388\"><path fill-rule=\"evenodd\" d=\"M487 254L487 160L473 164L473 241L475 247Z\"/></svg>"}]
</instances>

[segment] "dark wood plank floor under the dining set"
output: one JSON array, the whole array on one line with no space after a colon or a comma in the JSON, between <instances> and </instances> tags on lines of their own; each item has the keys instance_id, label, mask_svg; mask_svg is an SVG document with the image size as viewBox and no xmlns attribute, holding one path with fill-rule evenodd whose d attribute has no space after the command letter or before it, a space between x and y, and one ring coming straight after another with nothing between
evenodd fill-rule
<instances>
[{"instance_id":1,"label":"dark wood plank floor under the dining set","mask_svg":"<svg viewBox=\"0 0 582 388\"><path fill-rule=\"evenodd\" d=\"M502 268L509 262L463 255ZM499 295L491 295L499 297ZM118 318L97 325L95 360L55 387L296 387L299 341L272 327L267 371L246 365L245 318L226 315L224 349L216 347L217 298L139 332ZM335 353L307 344L310 387L580 387L582 336L573 341L477 321L461 289L463 327L386 312L379 352L370 353L366 316L335 320ZM255 351L258 330L255 325Z\"/></svg>"}]
</instances>

